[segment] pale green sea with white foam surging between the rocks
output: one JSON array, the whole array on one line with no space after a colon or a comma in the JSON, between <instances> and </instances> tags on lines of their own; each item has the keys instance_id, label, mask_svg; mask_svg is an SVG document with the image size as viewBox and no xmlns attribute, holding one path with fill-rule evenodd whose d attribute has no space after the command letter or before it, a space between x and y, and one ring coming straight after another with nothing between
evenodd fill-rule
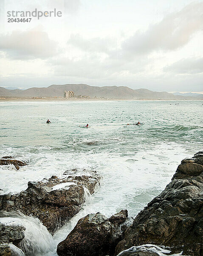
<instances>
[{"instance_id":1,"label":"pale green sea with white foam surging between the rocks","mask_svg":"<svg viewBox=\"0 0 203 256\"><path fill-rule=\"evenodd\" d=\"M28 162L19 171L0 166L1 193L70 169L102 176L82 210L53 238L37 219L23 219L36 244L31 255L56 255L57 244L88 213L110 217L127 209L135 217L170 182L180 161L203 149L202 117L201 101L0 102L0 157ZM138 121L143 125L133 125Z\"/></svg>"}]
</instances>

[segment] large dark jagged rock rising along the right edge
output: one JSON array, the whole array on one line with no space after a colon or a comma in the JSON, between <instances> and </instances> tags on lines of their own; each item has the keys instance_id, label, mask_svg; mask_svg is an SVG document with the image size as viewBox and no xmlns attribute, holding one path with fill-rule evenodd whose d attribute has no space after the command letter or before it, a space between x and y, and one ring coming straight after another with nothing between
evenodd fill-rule
<instances>
[{"instance_id":1,"label":"large dark jagged rock rising along the right edge","mask_svg":"<svg viewBox=\"0 0 203 256\"><path fill-rule=\"evenodd\" d=\"M161 244L191 256L203 255L202 151L181 162L172 181L127 228L116 253L141 244Z\"/></svg>"}]
</instances>

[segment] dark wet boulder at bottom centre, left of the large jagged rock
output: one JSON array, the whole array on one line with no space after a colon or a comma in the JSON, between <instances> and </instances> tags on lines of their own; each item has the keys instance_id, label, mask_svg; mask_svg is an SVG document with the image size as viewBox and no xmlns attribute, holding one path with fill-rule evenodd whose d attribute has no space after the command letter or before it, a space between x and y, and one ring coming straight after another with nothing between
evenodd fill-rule
<instances>
[{"instance_id":1,"label":"dark wet boulder at bottom centre, left of the large jagged rock","mask_svg":"<svg viewBox=\"0 0 203 256\"><path fill-rule=\"evenodd\" d=\"M81 218L67 238L57 247L59 256L105 256L114 253L122 239L122 224L127 220L127 210L110 218L101 213L88 214Z\"/></svg>"}]
</instances>

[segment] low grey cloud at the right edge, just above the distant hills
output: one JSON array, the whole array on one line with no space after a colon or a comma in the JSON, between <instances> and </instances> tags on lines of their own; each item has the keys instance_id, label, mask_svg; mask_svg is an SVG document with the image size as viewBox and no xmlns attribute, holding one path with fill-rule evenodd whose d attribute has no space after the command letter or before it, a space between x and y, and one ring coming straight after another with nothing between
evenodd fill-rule
<instances>
[{"instance_id":1,"label":"low grey cloud at the right edge, just above the distant hills","mask_svg":"<svg viewBox=\"0 0 203 256\"><path fill-rule=\"evenodd\" d=\"M200 74L203 73L203 58L183 58L164 67L163 71L175 74Z\"/></svg>"}]
</instances>

